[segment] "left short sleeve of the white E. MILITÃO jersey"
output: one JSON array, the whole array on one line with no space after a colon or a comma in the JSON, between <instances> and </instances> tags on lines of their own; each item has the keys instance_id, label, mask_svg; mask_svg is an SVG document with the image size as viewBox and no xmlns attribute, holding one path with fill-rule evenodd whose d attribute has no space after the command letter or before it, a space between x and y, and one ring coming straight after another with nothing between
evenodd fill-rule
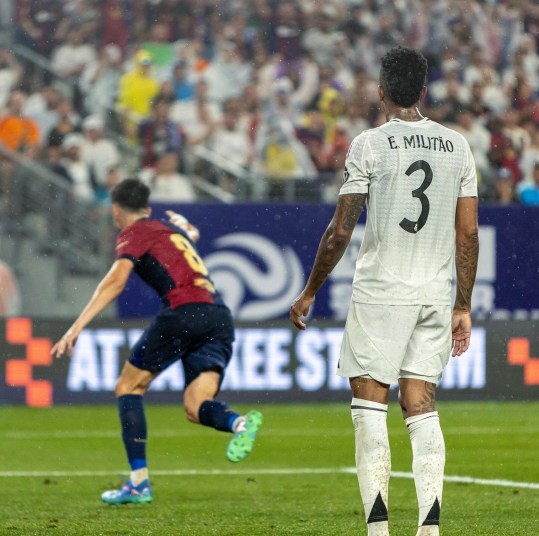
<instances>
[{"instance_id":1,"label":"left short sleeve of the white E. MILIT\u00c3O jersey","mask_svg":"<svg viewBox=\"0 0 539 536\"><path fill-rule=\"evenodd\" d=\"M374 167L374 157L367 132L355 137L348 149L344 166L344 183L339 195L367 194Z\"/></svg>"}]
</instances>

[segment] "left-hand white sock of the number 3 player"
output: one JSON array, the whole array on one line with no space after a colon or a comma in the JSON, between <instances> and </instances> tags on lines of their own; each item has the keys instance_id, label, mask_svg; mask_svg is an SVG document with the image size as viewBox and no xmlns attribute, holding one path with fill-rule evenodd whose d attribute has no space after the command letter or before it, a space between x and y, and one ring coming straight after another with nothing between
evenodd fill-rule
<instances>
[{"instance_id":1,"label":"left-hand white sock of the number 3 player","mask_svg":"<svg viewBox=\"0 0 539 536\"><path fill-rule=\"evenodd\" d=\"M387 404L352 398L356 469L369 536L387 536L391 455Z\"/></svg>"}]
</instances>

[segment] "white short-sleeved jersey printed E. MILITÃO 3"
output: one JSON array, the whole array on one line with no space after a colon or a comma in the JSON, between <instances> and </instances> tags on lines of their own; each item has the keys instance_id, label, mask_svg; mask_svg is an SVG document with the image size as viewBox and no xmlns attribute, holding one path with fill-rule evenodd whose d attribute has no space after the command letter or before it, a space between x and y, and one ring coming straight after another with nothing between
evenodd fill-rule
<instances>
[{"instance_id":1,"label":"white short-sleeved jersey printed E. MILIT\u00c3O 3","mask_svg":"<svg viewBox=\"0 0 539 536\"><path fill-rule=\"evenodd\" d=\"M352 299L447 305L458 197L477 197L464 137L434 121L392 119L350 145L342 194L368 194Z\"/></svg>"}]
</instances>

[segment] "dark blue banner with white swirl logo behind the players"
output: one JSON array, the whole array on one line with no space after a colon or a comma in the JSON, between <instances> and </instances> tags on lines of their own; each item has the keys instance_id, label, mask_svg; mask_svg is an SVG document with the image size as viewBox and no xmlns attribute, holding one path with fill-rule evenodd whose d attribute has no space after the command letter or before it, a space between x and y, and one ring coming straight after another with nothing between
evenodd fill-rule
<instances>
[{"instance_id":1,"label":"dark blue banner with white swirl logo behind the players","mask_svg":"<svg viewBox=\"0 0 539 536\"><path fill-rule=\"evenodd\" d=\"M199 253L237 320L286 318L302 290L329 204L153 205L183 214L200 229ZM355 261L364 232L362 215L343 258L320 290L311 314L344 320ZM473 296L477 319L539 319L539 207L481 206L480 258ZM149 287L133 276L118 300L123 318L148 317L160 308Z\"/></svg>"}]
</instances>

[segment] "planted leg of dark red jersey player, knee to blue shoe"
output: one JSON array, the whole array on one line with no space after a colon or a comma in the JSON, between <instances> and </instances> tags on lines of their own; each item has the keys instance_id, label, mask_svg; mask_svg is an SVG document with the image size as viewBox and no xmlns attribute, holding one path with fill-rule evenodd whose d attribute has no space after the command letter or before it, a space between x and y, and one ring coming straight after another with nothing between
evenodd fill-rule
<instances>
[{"instance_id":1,"label":"planted leg of dark red jersey player, knee to blue shoe","mask_svg":"<svg viewBox=\"0 0 539 536\"><path fill-rule=\"evenodd\" d=\"M146 461L148 432L143 396L156 375L126 363L116 384L122 439L131 474L122 488L101 495L107 504L148 503L153 499Z\"/></svg>"}]
</instances>

